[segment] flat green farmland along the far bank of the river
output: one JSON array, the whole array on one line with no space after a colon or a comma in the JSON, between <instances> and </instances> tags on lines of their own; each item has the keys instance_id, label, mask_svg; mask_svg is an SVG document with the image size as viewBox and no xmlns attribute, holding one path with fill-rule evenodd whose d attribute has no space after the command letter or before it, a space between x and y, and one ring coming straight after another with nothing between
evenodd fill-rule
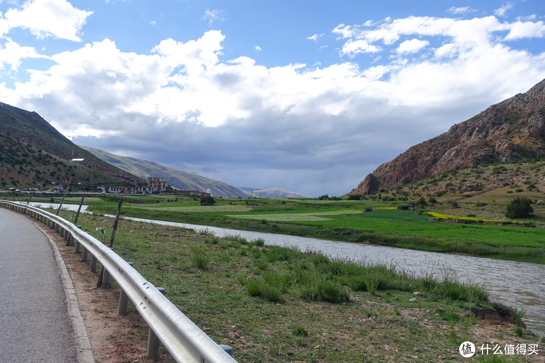
<instances>
[{"instance_id":1,"label":"flat green farmland along the far bank of the river","mask_svg":"<svg viewBox=\"0 0 545 363\"><path fill-rule=\"evenodd\" d=\"M111 201L94 204L91 210L114 214L116 197L109 198ZM213 206L200 206L198 200L190 198L129 196L121 213L127 217L545 263L544 228L481 224L471 220L468 223L433 222L427 211L397 210L399 203L218 199ZM365 212L366 208L372 211Z\"/></svg>"}]
</instances>

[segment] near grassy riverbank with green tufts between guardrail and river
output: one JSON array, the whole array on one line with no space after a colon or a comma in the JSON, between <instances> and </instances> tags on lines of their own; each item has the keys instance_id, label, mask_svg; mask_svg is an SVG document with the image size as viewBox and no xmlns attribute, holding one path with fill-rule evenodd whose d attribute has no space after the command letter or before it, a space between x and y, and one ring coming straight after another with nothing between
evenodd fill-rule
<instances>
[{"instance_id":1,"label":"near grassy riverbank with green tufts between guardrail and river","mask_svg":"<svg viewBox=\"0 0 545 363\"><path fill-rule=\"evenodd\" d=\"M105 241L112 222L84 215L78 224ZM448 275L435 281L385 264L361 267L259 240L130 220L120 221L114 250L165 287L215 341L233 346L239 362L462 361L464 341L545 344L516 325L477 319L476 311L501 305L489 302L482 286ZM539 353L519 358L543 361Z\"/></svg>"}]
</instances>

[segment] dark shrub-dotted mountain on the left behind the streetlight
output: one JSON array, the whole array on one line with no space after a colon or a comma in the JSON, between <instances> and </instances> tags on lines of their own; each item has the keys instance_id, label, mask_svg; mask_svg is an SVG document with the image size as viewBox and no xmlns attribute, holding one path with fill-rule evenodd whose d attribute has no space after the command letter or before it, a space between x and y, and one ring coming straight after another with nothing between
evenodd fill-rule
<instances>
[{"instance_id":1,"label":"dark shrub-dotted mountain on the left behind the streetlight","mask_svg":"<svg viewBox=\"0 0 545 363\"><path fill-rule=\"evenodd\" d=\"M0 107L0 153L0 183L4 188L45 187L69 179L87 188L147 184L81 149L37 113L5 103ZM73 158L84 160L80 165L70 162Z\"/></svg>"}]
</instances>

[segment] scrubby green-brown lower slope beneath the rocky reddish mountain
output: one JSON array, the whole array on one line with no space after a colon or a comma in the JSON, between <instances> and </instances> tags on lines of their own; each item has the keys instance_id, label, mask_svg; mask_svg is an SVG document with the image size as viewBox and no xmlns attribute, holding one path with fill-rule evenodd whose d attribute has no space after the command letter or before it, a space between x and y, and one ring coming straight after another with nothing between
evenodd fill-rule
<instances>
[{"instance_id":1,"label":"scrubby green-brown lower slope beneath the rocky reddish mountain","mask_svg":"<svg viewBox=\"0 0 545 363\"><path fill-rule=\"evenodd\" d=\"M368 195L368 200L417 201L429 211L505 221L505 206L517 196L545 201L545 162L498 163L460 168ZM530 220L545 223L545 208L532 205Z\"/></svg>"}]
</instances>

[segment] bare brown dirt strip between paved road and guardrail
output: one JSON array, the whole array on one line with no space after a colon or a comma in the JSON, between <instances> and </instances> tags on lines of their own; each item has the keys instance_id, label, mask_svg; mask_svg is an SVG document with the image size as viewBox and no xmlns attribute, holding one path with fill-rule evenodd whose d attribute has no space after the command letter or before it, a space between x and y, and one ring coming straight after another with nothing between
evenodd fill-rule
<instances>
[{"instance_id":1,"label":"bare brown dirt strip between paved road and guardrail","mask_svg":"<svg viewBox=\"0 0 545 363\"><path fill-rule=\"evenodd\" d=\"M35 220L30 219L33 223ZM47 226L40 226L47 230ZM129 312L118 315L119 287L96 288L98 273L90 272L90 263L81 261L81 253L57 233L48 233L63 256L66 269L74 284L78 305L85 322L87 335L96 363L171 363L174 359L161 346L159 358L148 358L148 325L134 305L129 303ZM100 271L100 264L97 268Z\"/></svg>"}]
</instances>

